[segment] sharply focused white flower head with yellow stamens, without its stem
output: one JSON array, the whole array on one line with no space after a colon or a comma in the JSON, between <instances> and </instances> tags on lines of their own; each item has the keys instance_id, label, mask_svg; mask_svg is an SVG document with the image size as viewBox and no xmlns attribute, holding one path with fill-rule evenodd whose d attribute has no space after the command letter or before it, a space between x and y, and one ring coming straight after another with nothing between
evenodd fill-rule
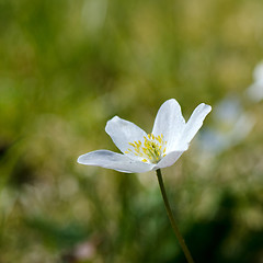
<instances>
[{"instance_id":1,"label":"sharply focused white flower head with yellow stamens, without its stem","mask_svg":"<svg viewBox=\"0 0 263 263\"><path fill-rule=\"evenodd\" d=\"M105 130L123 152L91 151L79 157L78 162L126 173L139 173L172 165L187 150L198 132L209 105L199 104L187 123L174 100L165 101L159 108L151 134L117 116L107 122Z\"/></svg>"}]
</instances>

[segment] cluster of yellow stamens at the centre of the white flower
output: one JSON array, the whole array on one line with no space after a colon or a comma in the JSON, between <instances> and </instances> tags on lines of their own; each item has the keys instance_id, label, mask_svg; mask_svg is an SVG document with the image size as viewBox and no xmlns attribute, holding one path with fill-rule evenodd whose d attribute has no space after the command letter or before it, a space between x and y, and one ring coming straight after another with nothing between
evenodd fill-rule
<instances>
[{"instance_id":1,"label":"cluster of yellow stamens at the centre of the white flower","mask_svg":"<svg viewBox=\"0 0 263 263\"><path fill-rule=\"evenodd\" d=\"M147 137L144 136L144 142L140 140L129 142L132 147L125 153L134 153L137 157L141 157L144 162L159 162L167 151L167 141L163 140L163 135L155 136L153 134L148 134Z\"/></svg>"}]
</instances>

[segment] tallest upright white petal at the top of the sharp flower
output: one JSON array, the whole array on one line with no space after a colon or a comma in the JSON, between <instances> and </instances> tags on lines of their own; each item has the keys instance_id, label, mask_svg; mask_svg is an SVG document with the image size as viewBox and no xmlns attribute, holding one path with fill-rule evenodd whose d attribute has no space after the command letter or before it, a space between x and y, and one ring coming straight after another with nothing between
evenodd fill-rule
<instances>
[{"instance_id":1,"label":"tallest upright white petal at the top of the sharp flower","mask_svg":"<svg viewBox=\"0 0 263 263\"><path fill-rule=\"evenodd\" d=\"M155 136L163 135L167 141L167 152L169 152L176 148L184 126L185 121L181 112L181 106L174 99L171 99L165 101L159 108L152 134Z\"/></svg>"}]
</instances>

